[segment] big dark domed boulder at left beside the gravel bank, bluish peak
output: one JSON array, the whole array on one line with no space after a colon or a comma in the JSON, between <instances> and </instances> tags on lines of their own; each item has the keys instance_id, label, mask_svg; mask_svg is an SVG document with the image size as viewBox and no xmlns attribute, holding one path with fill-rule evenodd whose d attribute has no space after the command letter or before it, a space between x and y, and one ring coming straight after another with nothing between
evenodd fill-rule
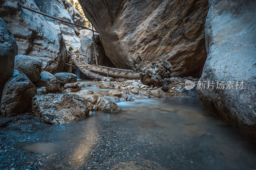
<instances>
[{"instance_id":1,"label":"big dark domed boulder at left beside the gravel bank, bluish peak","mask_svg":"<svg viewBox=\"0 0 256 170\"><path fill-rule=\"evenodd\" d=\"M19 70L14 70L13 76L4 86L0 110L5 116L25 112L31 106L32 98L37 94L35 85Z\"/></svg>"}]
</instances>

